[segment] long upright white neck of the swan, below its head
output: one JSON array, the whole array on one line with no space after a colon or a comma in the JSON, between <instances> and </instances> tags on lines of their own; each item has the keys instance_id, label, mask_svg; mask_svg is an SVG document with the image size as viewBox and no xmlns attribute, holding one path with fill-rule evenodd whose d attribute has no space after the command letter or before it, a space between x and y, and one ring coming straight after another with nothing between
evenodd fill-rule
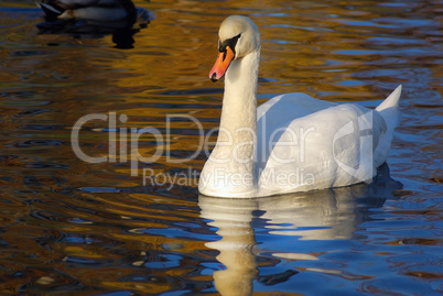
<instances>
[{"instance_id":1,"label":"long upright white neck of the swan, below its head","mask_svg":"<svg viewBox=\"0 0 443 296\"><path fill-rule=\"evenodd\" d=\"M260 50L234 61L225 77L220 130L209 160L218 162L219 174L230 178L217 188L218 194L222 190L226 196L230 193L248 195L256 189L253 156L259 62Z\"/></svg>"}]
</instances>

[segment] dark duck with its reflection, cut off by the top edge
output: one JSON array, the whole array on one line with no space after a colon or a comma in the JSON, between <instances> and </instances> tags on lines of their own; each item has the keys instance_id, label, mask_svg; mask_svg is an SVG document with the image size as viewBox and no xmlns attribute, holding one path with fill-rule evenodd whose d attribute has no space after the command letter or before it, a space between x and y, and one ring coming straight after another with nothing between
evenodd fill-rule
<instances>
[{"instance_id":1,"label":"dark duck with its reflection, cut off by the top edge","mask_svg":"<svg viewBox=\"0 0 443 296\"><path fill-rule=\"evenodd\" d=\"M132 48L133 35L155 19L131 0L40 0L45 22L36 24L40 33L69 34L75 37L112 35L117 48Z\"/></svg>"}]
</instances>

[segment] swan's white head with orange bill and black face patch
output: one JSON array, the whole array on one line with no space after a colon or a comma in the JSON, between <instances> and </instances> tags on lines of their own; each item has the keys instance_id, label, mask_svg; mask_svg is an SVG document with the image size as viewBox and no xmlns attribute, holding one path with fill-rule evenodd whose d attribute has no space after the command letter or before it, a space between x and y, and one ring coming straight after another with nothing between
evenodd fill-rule
<instances>
[{"instance_id":1,"label":"swan's white head with orange bill and black face patch","mask_svg":"<svg viewBox=\"0 0 443 296\"><path fill-rule=\"evenodd\" d=\"M241 15L226 18L218 31L217 61L209 73L213 81L220 79L230 63L255 51L260 51L260 33L251 19Z\"/></svg>"}]
</instances>

